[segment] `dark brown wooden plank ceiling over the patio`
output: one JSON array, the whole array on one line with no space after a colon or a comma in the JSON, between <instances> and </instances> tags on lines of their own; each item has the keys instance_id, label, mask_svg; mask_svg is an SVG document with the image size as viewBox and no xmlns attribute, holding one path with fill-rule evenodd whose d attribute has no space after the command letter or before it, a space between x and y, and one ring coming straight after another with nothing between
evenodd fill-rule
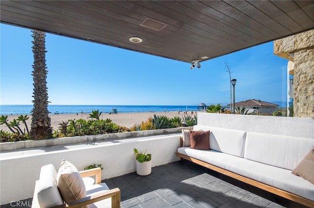
<instances>
[{"instance_id":1,"label":"dark brown wooden plank ceiling over the patio","mask_svg":"<svg viewBox=\"0 0 314 208\"><path fill-rule=\"evenodd\" d=\"M314 1L1 0L0 22L191 63L313 29Z\"/></svg>"}]
</instances>

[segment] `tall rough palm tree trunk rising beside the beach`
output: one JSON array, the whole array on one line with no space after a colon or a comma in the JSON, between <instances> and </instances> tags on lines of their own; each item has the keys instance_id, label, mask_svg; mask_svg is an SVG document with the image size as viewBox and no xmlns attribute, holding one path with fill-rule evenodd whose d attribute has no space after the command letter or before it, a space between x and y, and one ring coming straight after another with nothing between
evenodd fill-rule
<instances>
[{"instance_id":1,"label":"tall rough palm tree trunk rising beside the beach","mask_svg":"<svg viewBox=\"0 0 314 208\"><path fill-rule=\"evenodd\" d=\"M34 65L32 75L34 80L33 103L31 111L32 121L30 136L32 139L52 138L51 119L48 111L48 92L47 92L47 67L46 67L46 34L43 31L32 30L34 39L32 51L34 54Z\"/></svg>"}]
</instances>

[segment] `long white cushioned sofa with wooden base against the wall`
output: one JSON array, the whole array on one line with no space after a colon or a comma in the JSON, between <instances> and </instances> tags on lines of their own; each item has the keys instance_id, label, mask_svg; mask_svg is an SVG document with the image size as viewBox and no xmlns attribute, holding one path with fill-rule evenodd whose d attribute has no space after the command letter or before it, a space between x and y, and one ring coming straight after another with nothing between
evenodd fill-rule
<instances>
[{"instance_id":1,"label":"long white cushioned sofa with wooden base against the wall","mask_svg":"<svg viewBox=\"0 0 314 208\"><path fill-rule=\"evenodd\" d=\"M177 152L182 159L314 207L314 185L291 173L314 148L314 139L202 125L193 130L210 131L210 150L183 146Z\"/></svg>"}]
</instances>

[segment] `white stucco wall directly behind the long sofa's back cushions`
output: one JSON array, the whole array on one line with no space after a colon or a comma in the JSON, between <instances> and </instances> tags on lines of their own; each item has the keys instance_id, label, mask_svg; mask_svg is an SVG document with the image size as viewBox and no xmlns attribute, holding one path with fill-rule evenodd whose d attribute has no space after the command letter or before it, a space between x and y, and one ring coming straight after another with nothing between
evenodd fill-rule
<instances>
[{"instance_id":1,"label":"white stucco wall directly behind the long sofa's back cushions","mask_svg":"<svg viewBox=\"0 0 314 208\"><path fill-rule=\"evenodd\" d=\"M197 113L197 124L314 139L314 118Z\"/></svg>"}]
</instances>

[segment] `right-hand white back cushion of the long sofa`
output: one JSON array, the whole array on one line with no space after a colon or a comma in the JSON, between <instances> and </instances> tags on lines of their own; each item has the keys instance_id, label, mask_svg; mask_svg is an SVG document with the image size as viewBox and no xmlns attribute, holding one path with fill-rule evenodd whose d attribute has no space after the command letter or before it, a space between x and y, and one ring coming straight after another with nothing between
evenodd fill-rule
<instances>
[{"instance_id":1,"label":"right-hand white back cushion of the long sofa","mask_svg":"<svg viewBox=\"0 0 314 208\"><path fill-rule=\"evenodd\" d=\"M293 170L314 148L314 139L247 132L244 158Z\"/></svg>"}]
</instances>

